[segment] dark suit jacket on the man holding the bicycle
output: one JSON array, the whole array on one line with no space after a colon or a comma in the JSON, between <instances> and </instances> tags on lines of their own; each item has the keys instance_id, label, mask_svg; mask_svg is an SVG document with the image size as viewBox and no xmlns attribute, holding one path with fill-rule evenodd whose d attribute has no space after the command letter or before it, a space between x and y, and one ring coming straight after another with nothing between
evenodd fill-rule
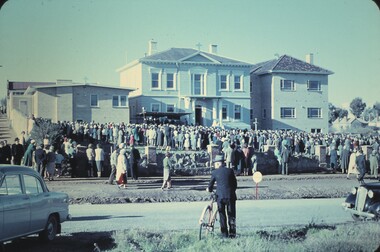
<instances>
[{"instance_id":1,"label":"dark suit jacket on the man holding the bicycle","mask_svg":"<svg viewBox=\"0 0 380 252\"><path fill-rule=\"evenodd\" d=\"M225 166L214 170L211 174L211 180L208 184L208 190L211 192L216 187L217 200L231 199L236 200L237 182L234 171Z\"/></svg>"}]
</instances>

